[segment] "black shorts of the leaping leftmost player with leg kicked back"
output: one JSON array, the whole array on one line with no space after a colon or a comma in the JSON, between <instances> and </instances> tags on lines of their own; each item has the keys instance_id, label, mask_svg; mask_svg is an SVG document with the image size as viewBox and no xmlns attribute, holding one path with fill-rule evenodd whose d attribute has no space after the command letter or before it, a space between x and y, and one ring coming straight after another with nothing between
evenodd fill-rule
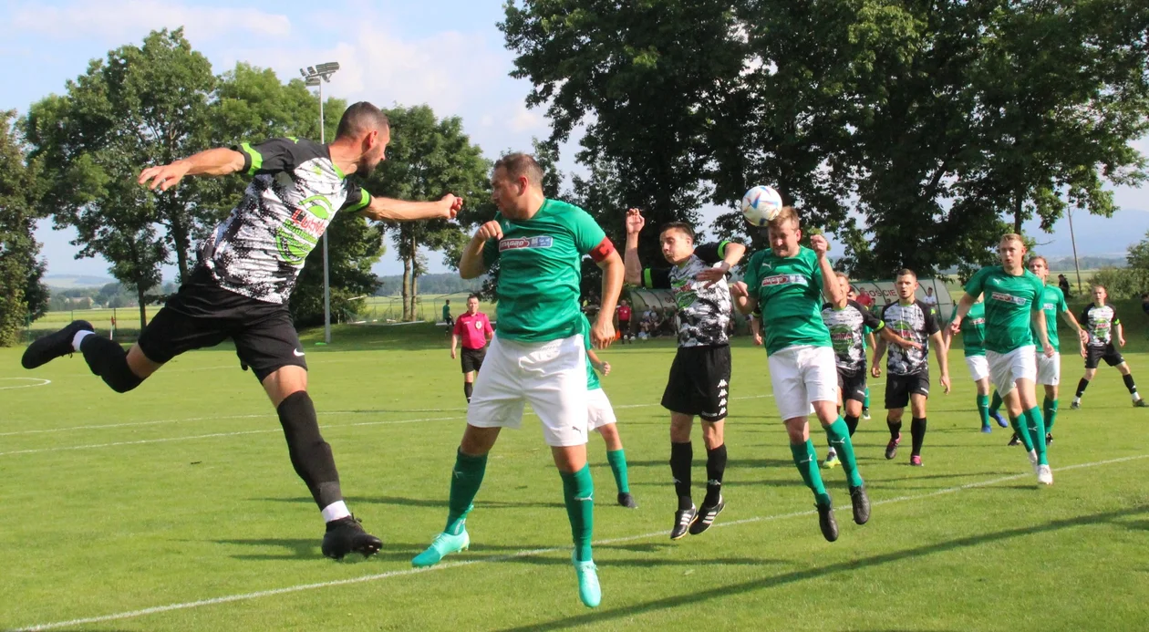
<instances>
[{"instance_id":1,"label":"black shorts of the leaping leftmost player with leg kicked back","mask_svg":"<svg viewBox=\"0 0 1149 632\"><path fill-rule=\"evenodd\" d=\"M164 363L229 338L240 365L250 367L260 381L283 367L307 369L287 306L224 290L203 268L144 327L139 346L148 360Z\"/></svg>"}]
</instances>

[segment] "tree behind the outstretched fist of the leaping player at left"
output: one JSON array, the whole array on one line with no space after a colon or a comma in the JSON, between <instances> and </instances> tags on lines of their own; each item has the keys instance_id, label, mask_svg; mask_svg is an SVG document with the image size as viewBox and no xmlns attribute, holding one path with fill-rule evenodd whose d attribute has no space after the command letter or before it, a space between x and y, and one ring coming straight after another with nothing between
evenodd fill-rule
<instances>
[{"instance_id":1,"label":"tree behind the outstretched fist of the leaping player at left","mask_svg":"<svg viewBox=\"0 0 1149 632\"><path fill-rule=\"evenodd\" d=\"M386 110L391 120L387 160L367 179L367 190L377 195L404 200L438 200L454 193L483 207L489 200L491 163L463 132L458 117L435 118L427 106L395 107ZM464 216L463 222L468 222ZM446 221L391 223L395 252L403 262L403 319L414 321L418 298L418 277L425 270L424 249L457 253L468 234L458 224ZM448 264L457 264L457 259Z\"/></svg>"}]
</instances>

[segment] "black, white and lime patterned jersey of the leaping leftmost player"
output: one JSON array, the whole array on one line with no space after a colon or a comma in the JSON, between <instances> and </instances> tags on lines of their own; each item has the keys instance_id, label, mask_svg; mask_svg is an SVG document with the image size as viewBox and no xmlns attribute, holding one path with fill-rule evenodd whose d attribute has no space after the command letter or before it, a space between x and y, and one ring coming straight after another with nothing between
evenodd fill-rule
<instances>
[{"instance_id":1,"label":"black, white and lime patterned jersey of the leaping leftmost player","mask_svg":"<svg viewBox=\"0 0 1149 632\"><path fill-rule=\"evenodd\" d=\"M199 264L225 290L286 303L336 213L361 210L371 196L318 142L276 138L236 149L244 154L244 170L255 177L231 216L200 245Z\"/></svg>"}]
</instances>

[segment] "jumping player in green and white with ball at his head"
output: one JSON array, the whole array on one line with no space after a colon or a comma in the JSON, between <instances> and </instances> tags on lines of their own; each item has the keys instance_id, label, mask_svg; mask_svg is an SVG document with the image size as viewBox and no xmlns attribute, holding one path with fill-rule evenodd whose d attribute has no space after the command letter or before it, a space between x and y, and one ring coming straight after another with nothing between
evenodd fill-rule
<instances>
[{"instance_id":1,"label":"jumping player in green and white with ball at his head","mask_svg":"<svg viewBox=\"0 0 1149 632\"><path fill-rule=\"evenodd\" d=\"M807 418L811 407L846 470L854 522L865 524L870 519L870 499L858 473L850 431L838 415L834 349L820 314L823 292L830 302L840 303L842 288L826 259L826 239L811 236L812 249L799 245L802 230L793 208L782 208L766 229L770 248L750 257L745 280L731 286L731 295L742 314L762 309L770 380L791 454L803 483L813 492L822 534L833 542L838 539L838 523L810 441Z\"/></svg>"}]
</instances>

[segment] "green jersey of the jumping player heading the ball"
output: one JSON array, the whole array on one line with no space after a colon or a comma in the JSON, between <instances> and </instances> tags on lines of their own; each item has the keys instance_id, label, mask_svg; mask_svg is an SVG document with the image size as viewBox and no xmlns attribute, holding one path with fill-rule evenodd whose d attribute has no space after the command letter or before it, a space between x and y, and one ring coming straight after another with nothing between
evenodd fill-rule
<instances>
[{"instance_id":1,"label":"green jersey of the jumping player heading the ball","mask_svg":"<svg viewBox=\"0 0 1149 632\"><path fill-rule=\"evenodd\" d=\"M813 251L803 246L791 257L770 248L754 253L742 280L762 309L766 355L796 345L833 347L822 322L822 268Z\"/></svg>"}]
</instances>

